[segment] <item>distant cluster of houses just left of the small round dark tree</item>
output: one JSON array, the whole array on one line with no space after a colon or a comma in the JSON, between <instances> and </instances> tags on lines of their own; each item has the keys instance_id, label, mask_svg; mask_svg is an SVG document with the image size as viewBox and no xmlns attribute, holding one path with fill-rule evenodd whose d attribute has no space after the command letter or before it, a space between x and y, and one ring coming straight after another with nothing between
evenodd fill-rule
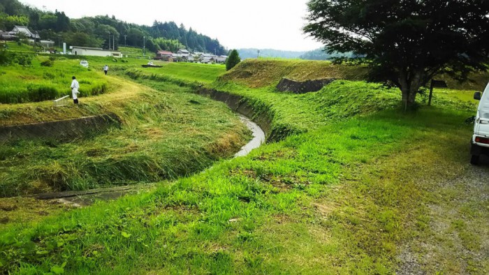
<instances>
[{"instance_id":1,"label":"distant cluster of houses just left of the small round dark tree","mask_svg":"<svg viewBox=\"0 0 489 275\"><path fill-rule=\"evenodd\" d=\"M176 53L168 51L156 52L156 57L154 59L168 62L184 61L202 64L224 64L226 63L227 58L226 55L218 56L214 54L205 54L203 52L191 53L188 50L182 49L178 50Z\"/></svg>"}]
</instances>

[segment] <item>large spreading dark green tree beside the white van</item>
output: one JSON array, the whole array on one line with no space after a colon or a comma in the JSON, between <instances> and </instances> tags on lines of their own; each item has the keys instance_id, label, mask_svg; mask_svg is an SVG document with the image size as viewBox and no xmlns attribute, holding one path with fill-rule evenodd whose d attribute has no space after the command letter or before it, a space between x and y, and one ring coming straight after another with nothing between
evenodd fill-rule
<instances>
[{"instance_id":1,"label":"large spreading dark green tree beside the white van","mask_svg":"<svg viewBox=\"0 0 489 275\"><path fill-rule=\"evenodd\" d=\"M353 52L370 78L395 84L406 108L438 73L486 70L488 0L311 0L306 34L328 53Z\"/></svg>"}]
</instances>

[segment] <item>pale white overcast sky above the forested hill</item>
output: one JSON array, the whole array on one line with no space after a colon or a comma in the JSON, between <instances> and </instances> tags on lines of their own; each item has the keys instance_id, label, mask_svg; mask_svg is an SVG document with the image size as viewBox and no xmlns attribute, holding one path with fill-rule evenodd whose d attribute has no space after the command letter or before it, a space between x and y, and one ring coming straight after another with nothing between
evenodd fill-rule
<instances>
[{"instance_id":1,"label":"pale white overcast sky above the forested hill","mask_svg":"<svg viewBox=\"0 0 489 275\"><path fill-rule=\"evenodd\" d=\"M314 50L321 44L302 34L307 0L21 0L41 10L64 11L70 18L115 15L118 20L152 25L183 23L219 39L228 48Z\"/></svg>"}]
</instances>

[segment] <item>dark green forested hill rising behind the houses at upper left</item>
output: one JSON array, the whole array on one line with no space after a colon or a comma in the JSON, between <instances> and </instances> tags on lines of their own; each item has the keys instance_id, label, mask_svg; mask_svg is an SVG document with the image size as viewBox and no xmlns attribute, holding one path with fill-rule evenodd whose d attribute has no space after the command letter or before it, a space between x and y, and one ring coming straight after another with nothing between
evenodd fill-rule
<instances>
[{"instance_id":1,"label":"dark green forested hill rising behind the houses at upper left","mask_svg":"<svg viewBox=\"0 0 489 275\"><path fill-rule=\"evenodd\" d=\"M38 31L43 39L62 40L68 45L107 49L110 33L110 36L115 36L116 49L119 45L143 47L145 37L145 46L150 51L187 48L196 52L226 54L219 40L198 34L192 28L187 30L183 24L178 26L175 22L155 20L152 26L145 26L117 20L114 15L72 19L62 11L43 11L17 0L1 0L0 30L10 31L15 25L27 26L33 32Z\"/></svg>"}]
</instances>

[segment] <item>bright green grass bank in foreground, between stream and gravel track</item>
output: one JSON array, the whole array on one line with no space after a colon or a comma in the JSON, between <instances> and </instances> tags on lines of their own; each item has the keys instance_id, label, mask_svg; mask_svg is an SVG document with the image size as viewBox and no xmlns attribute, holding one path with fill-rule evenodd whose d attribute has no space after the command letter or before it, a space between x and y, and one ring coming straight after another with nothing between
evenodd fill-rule
<instances>
[{"instance_id":1,"label":"bright green grass bank in foreground, between stream and gravel track","mask_svg":"<svg viewBox=\"0 0 489 275\"><path fill-rule=\"evenodd\" d=\"M335 82L311 98L233 90L240 92L279 105L274 119L282 124L315 127L154 193L6 228L4 268L47 272L66 262L70 273L384 274L395 272L409 243L423 272L487 272L483 201L467 198L450 217L462 251L449 250L447 234L445 249L423 262L423 241L411 244L435 237L430 207L444 209L445 198L464 192L445 183L470 169L471 129L462 121L473 104L453 111L442 101L403 115L392 110L392 91L362 82ZM307 114L292 111L305 106ZM351 110L361 116L324 118Z\"/></svg>"}]
</instances>

